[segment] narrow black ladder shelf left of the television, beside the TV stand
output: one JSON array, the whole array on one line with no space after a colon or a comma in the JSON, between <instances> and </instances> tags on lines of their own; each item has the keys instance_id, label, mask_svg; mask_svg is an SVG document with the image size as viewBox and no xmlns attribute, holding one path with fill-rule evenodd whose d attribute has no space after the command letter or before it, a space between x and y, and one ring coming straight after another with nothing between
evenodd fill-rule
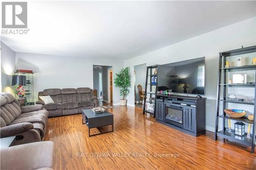
<instances>
[{"instance_id":1,"label":"narrow black ladder shelf left of the television, beside the TV stand","mask_svg":"<svg viewBox=\"0 0 256 170\"><path fill-rule=\"evenodd\" d=\"M143 114L145 113L149 113L149 114L153 114L154 115L154 118L156 117L156 109L155 109L155 103L156 103L156 96L157 96L157 74L155 74L153 72L153 70L155 69L158 69L157 68L158 65L152 65L152 66L147 66L146 67L146 84L145 84L145 93L144 93L144 102L143 102ZM155 78L156 79L156 83L152 83L152 78ZM148 83L148 79L150 79L150 82ZM150 91L148 91L148 86L150 86ZM152 91L153 90L153 86L155 86L155 91ZM155 95L155 100L153 101L146 101L147 99L147 95L152 98L153 95ZM150 99L148 98L148 99ZM150 104L153 104L153 109L146 109L146 103L150 103Z\"/></svg>"}]
</instances>

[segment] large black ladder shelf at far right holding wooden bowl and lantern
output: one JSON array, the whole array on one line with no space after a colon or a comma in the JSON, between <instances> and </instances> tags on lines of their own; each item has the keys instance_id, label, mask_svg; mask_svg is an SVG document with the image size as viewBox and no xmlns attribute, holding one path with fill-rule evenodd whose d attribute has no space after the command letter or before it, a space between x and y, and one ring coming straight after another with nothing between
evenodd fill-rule
<instances>
[{"instance_id":1,"label":"large black ladder shelf at far right holding wooden bowl and lantern","mask_svg":"<svg viewBox=\"0 0 256 170\"><path fill-rule=\"evenodd\" d=\"M256 84L255 82L247 83L247 84L228 84L226 80L226 73L229 71L245 71L245 70L255 70L255 80L256 80L256 65L245 65L245 66L236 66L236 67L225 67L226 63L226 58L230 56L237 56L237 55L242 55L242 54L248 54L248 53L255 53L256 52L256 45L255 46L250 46L250 47L245 47L245 48L240 48L237 50L231 50L227 52L222 52L219 53L219 79L218 79L218 89L217 89L217 105L216 105L216 122L215 122L215 140L218 139L218 136L223 137L228 140L233 140L239 143L242 143L244 145L247 145L251 147L251 153L254 152L254 146L255 146L255 123L256 123ZM232 87L241 87L241 88L246 88L246 87L252 87L254 88L254 103L249 103L249 102L235 102L235 101L227 101L225 98L226 96L226 88L232 88ZM222 98L220 99L220 91L222 90ZM222 111L220 111L220 102L223 103L223 108ZM237 104L243 104L243 105L254 105L253 108L253 120L247 119L247 117L241 117L241 118L233 118L229 117L226 115L224 112L224 109L226 109L226 104L227 103L237 103ZM222 114L220 114L220 112ZM219 126L219 118L223 119L223 128L221 131L218 131L218 126ZM226 120L236 120L238 122L244 122L247 124L252 124L252 134L250 135L251 138L247 138L244 136L243 138L236 138L234 135L234 130L231 130L231 132L228 132L226 130Z\"/></svg>"}]
</instances>

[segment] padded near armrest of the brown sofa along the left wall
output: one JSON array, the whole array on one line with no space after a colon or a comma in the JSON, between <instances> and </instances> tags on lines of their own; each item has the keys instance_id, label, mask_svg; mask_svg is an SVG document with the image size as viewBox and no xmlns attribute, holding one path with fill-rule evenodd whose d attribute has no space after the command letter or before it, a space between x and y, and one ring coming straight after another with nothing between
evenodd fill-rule
<instances>
[{"instance_id":1,"label":"padded near armrest of the brown sofa along the left wall","mask_svg":"<svg viewBox=\"0 0 256 170\"><path fill-rule=\"evenodd\" d=\"M1 137L13 136L18 133L25 132L29 129L33 129L33 124L31 123L19 123L8 125L3 128L0 128Z\"/></svg>"}]
</instances>

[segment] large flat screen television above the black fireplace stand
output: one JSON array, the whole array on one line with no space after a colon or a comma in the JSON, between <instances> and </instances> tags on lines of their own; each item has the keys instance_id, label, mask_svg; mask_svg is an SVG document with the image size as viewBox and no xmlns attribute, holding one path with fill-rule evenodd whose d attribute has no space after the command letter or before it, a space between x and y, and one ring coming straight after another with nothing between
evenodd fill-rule
<instances>
[{"instance_id":1,"label":"large flat screen television above the black fireplace stand","mask_svg":"<svg viewBox=\"0 0 256 170\"><path fill-rule=\"evenodd\" d=\"M158 66L158 91L205 93L205 57Z\"/></svg>"}]
</instances>

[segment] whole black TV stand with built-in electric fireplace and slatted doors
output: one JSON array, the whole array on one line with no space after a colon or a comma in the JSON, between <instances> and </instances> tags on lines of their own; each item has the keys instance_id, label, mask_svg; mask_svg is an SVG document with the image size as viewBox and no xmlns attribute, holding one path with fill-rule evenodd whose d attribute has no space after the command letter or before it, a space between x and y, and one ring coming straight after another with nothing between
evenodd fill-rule
<instances>
[{"instance_id":1,"label":"whole black TV stand with built-in electric fireplace and slatted doors","mask_svg":"<svg viewBox=\"0 0 256 170\"><path fill-rule=\"evenodd\" d=\"M205 99L158 94L156 121L194 136L205 134Z\"/></svg>"}]
</instances>

